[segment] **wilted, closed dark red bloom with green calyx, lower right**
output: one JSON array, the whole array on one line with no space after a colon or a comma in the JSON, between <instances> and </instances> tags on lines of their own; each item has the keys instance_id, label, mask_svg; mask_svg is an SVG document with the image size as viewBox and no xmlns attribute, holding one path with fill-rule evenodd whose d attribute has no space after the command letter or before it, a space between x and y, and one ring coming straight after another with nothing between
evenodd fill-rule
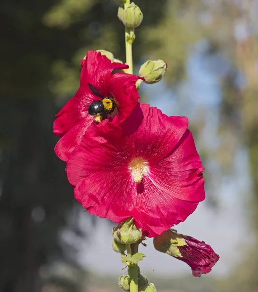
<instances>
[{"instance_id":1,"label":"wilted, closed dark red bloom with green calyx, lower right","mask_svg":"<svg viewBox=\"0 0 258 292\"><path fill-rule=\"evenodd\" d=\"M159 252L187 263L195 277L211 272L211 268L220 258L204 241L177 234L171 229L163 232L159 237L155 237L153 242L155 249Z\"/></svg>"}]
</instances>

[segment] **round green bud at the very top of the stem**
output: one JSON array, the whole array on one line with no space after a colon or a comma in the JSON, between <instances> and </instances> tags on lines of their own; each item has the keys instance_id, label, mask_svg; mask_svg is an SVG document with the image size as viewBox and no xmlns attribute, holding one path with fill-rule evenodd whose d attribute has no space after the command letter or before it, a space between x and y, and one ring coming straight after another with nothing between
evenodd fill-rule
<instances>
[{"instance_id":1,"label":"round green bud at the very top of the stem","mask_svg":"<svg viewBox=\"0 0 258 292\"><path fill-rule=\"evenodd\" d=\"M120 19L119 17L119 19L126 27L130 28L138 27L143 19L143 14L140 8L134 2L129 4L124 12L120 10L120 16L121 15L122 18Z\"/></svg>"}]
</instances>

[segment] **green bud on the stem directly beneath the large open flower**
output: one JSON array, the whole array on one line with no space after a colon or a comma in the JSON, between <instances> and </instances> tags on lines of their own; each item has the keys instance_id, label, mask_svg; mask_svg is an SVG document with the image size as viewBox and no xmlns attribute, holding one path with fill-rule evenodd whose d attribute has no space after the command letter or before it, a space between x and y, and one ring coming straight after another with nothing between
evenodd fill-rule
<instances>
[{"instance_id":1,"label":"green bud on the stem directly beneath the large open flower","mask_svg":"<svg viewBox=\"0 0 258 292\"><path fill-rule=\"evenodd\" d=\"M134 219L127 219L113 229L114 239L121 244L136 243L142 237L141 231L135 226Z\"/></svg>"}]
</instances>

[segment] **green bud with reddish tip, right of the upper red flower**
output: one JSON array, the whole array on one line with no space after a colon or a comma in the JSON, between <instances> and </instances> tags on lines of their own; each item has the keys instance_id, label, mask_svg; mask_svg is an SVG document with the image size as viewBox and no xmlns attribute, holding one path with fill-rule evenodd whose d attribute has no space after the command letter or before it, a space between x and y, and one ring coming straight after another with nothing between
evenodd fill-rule
<instances>
[{"instance_id":1,"label":"green bud with reddish tip, right of the upper red flower","mask_svg":"<svg viewBox=\"0 0 258 292\"><path fill-rule=\"evenodd\" d=\"M144 77L145 83L153 84L162 79L167 67L163 60L149 60L140 66L139 76Z\"/></svg>"}]
</instances>

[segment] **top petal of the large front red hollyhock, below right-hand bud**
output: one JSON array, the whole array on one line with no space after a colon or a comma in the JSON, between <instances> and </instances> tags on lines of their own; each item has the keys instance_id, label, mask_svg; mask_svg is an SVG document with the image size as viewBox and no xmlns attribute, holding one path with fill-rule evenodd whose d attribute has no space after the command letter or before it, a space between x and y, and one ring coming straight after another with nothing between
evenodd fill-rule
<instances>
[{"instance_id":1,"label":"top petal of the large front red hollyhock, below right-hand bud","mask_svg":"<svg viewBox=\"0 0 258 292\"><path fill-rule=\"evenodd\" d=\"M150 161L159 161L177 145L187 130L186 117L168 117L161 110L140 103L139 109L125 120L123 130L130 135L137 156ZM143 116L143 119L142 119ZM133 127L132 127L133 126ZM137 128L132 132L132 128Z\"/></svg>"}]
</instances>

